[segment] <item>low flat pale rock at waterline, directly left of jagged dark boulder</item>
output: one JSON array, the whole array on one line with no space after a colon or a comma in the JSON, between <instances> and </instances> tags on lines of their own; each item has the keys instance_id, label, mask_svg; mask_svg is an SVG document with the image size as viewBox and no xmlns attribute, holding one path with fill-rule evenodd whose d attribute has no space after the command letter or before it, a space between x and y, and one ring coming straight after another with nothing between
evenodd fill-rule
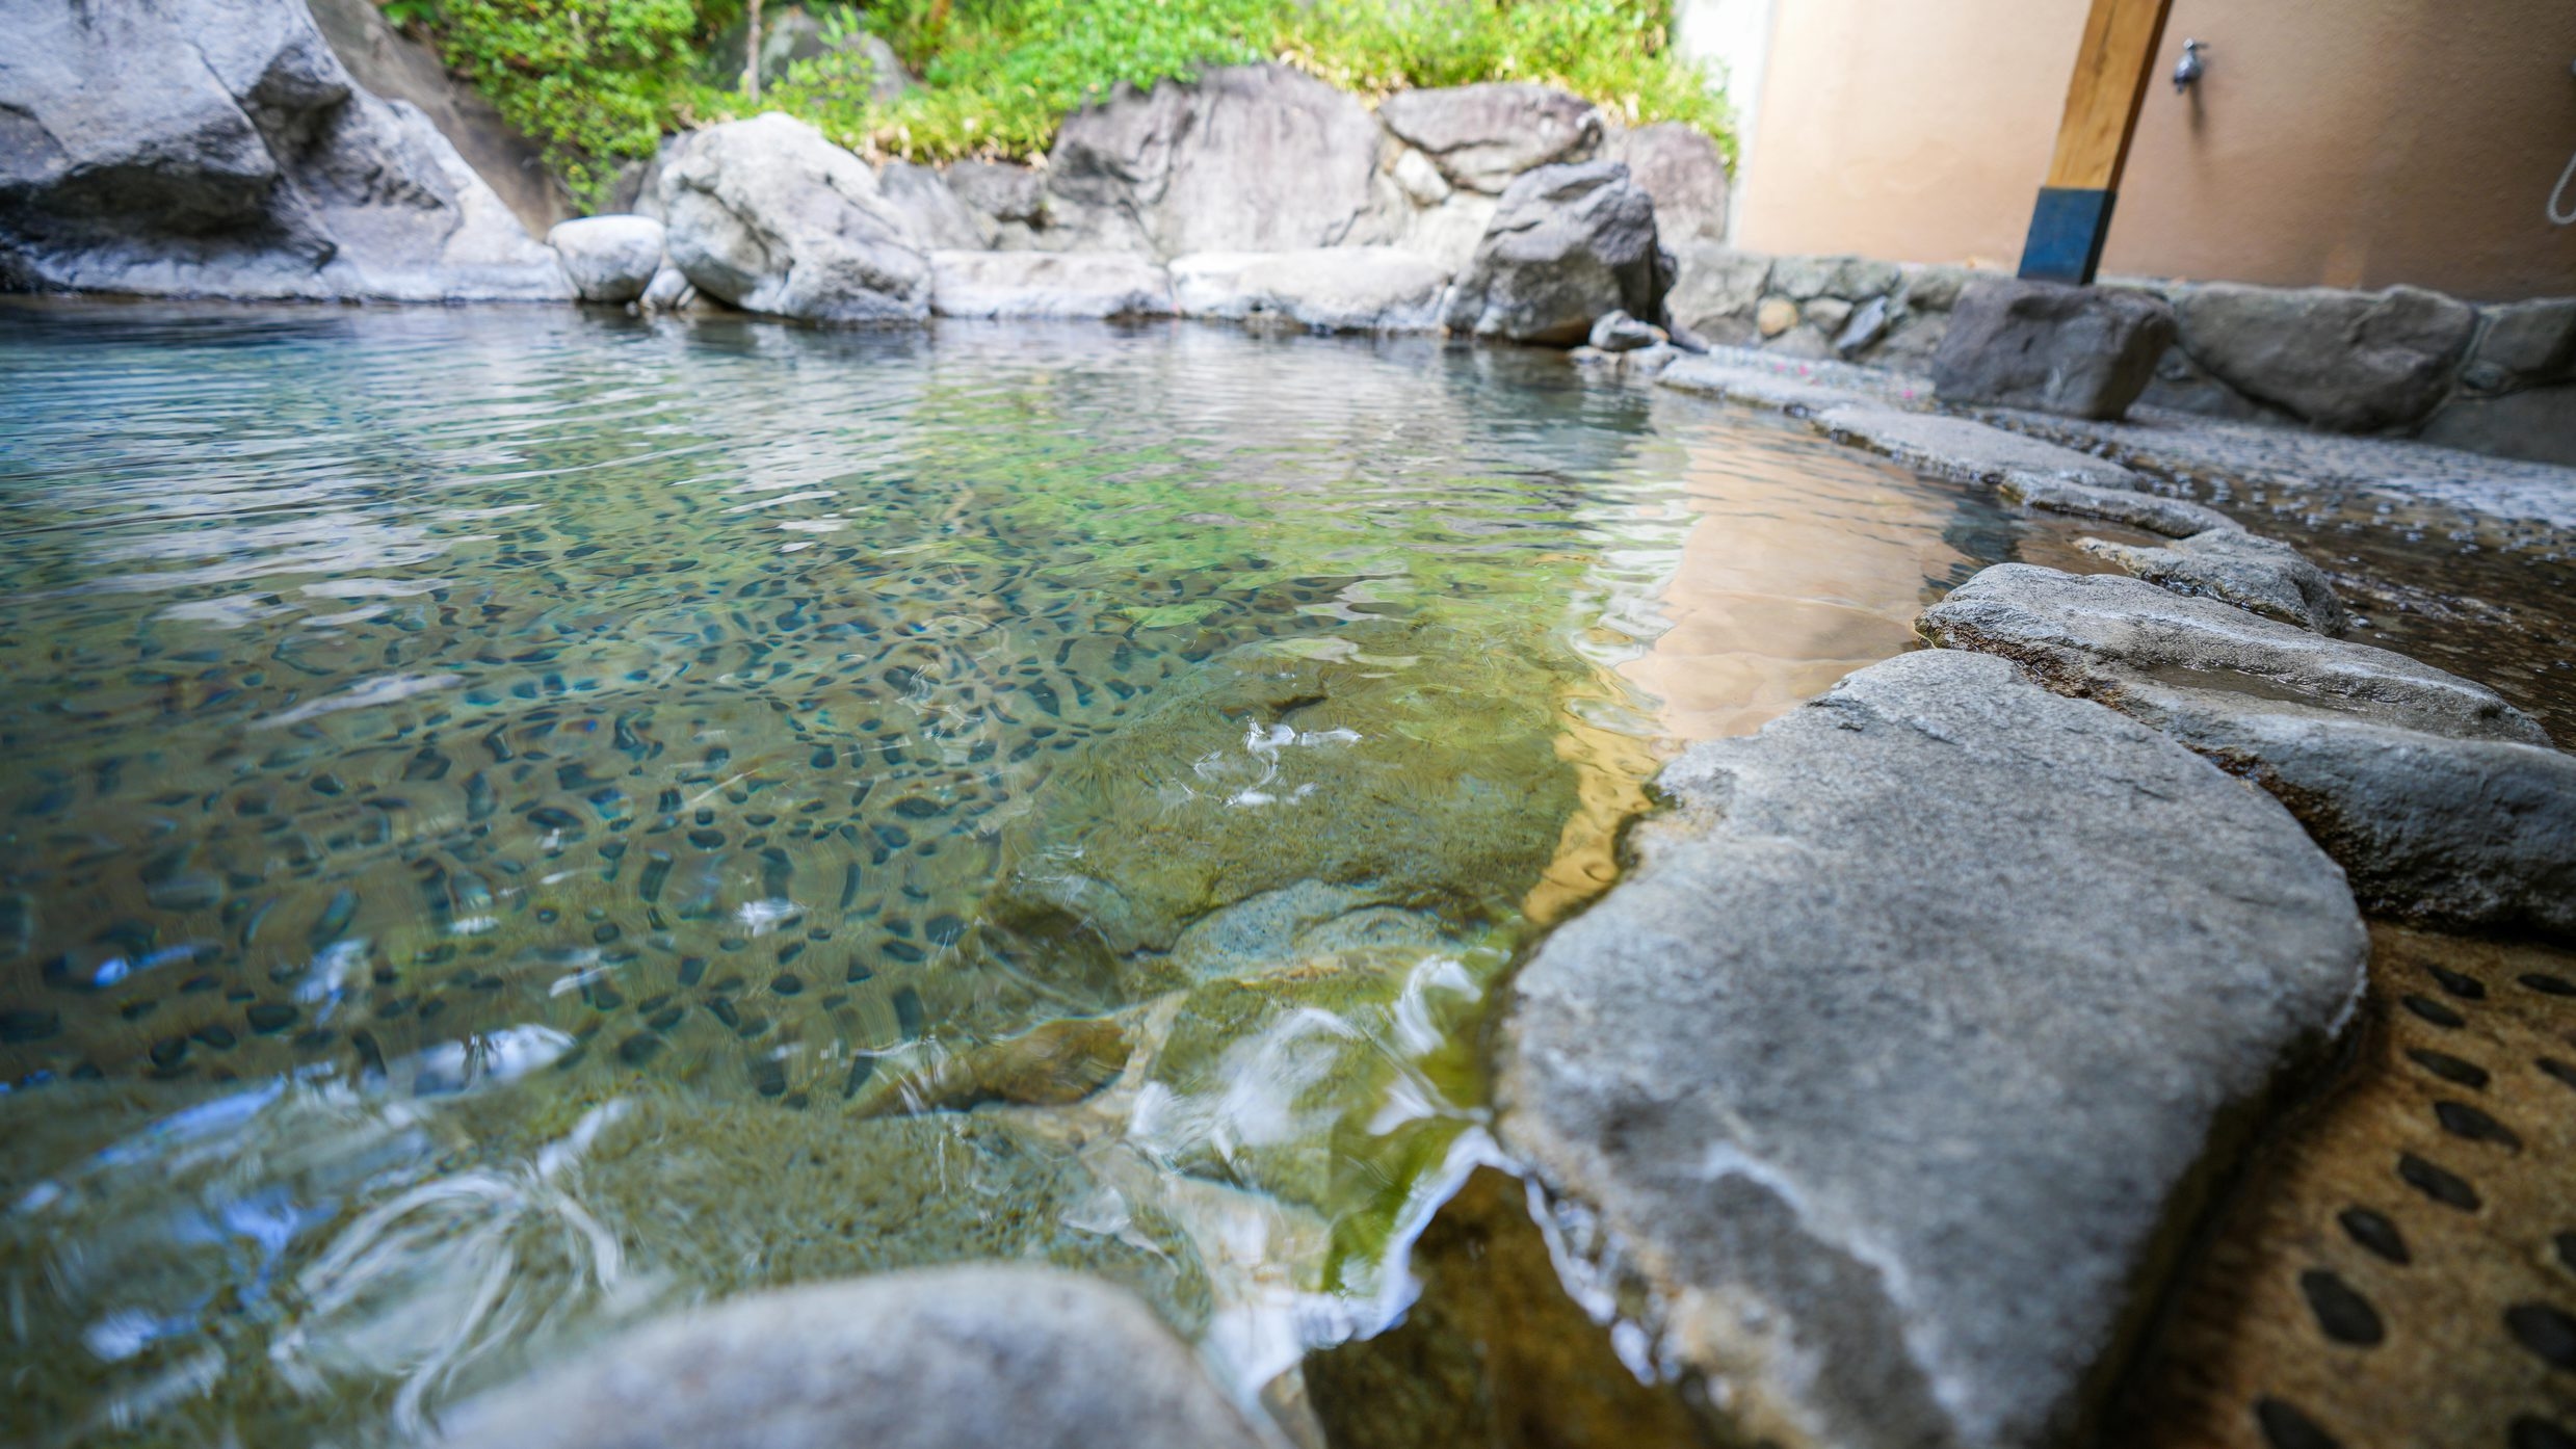
<instances>
[{"instance_id":1,"label":"low flat pale rock at waterline, directly left of jagged dark boulder","mask_svg":"<svg viewBox=\"0 0 2576 1449\"><path fill-rule=\"evenodd\" d=\"M1280 319L1316 332L1437 332L1448 270L1399 247L1200 252L1172 263L1182 317Z\"/></svg>"}]
</instances>

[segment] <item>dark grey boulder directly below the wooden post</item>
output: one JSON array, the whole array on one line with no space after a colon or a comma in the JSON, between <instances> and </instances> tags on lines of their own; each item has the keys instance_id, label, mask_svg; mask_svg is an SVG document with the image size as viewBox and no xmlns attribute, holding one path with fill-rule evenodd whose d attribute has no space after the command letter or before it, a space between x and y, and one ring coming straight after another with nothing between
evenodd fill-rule
<instances>
[{"instance_id":1,"label":"dark grey boulder directly below the wooden post","mask_svg":"<svg viewBox=\"0 0 2576 1449\"><path fill-rule=\"evenodd\" d=\"M2115 422L2156 378L2174 309L2125 288L1978 281L1932 355L1942 401L2030 407Z\"/></svg>"}]
</instances>

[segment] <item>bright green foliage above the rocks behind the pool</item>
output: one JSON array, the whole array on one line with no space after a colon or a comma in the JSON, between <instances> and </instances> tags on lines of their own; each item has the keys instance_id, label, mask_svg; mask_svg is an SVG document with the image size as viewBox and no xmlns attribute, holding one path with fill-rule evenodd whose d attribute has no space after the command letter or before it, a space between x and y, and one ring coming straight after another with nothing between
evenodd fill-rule
<instances>
[{"instance_id":1,"label":"bright green foliage above the rocks behind the pool","mask_svg":"<svg viewBox=\"0 0 2576 1449\"><path fill-rule=\"evenodd\" d=\"M541 136L595 198L662 131L788 111L866 154L1033 157L1059 121L1115 85L1280 59L1347 90L1538 80L1631 124L1685 121L1734 152L1726 106L1669 49L1672 0L811 0L837 44L762 77L752 103L706 64L742 0L394 0L435 13L451 67ZM783 10L770 0L775 18ZM873 95L858 31L920 75ZM739 51L739 31L734 39Z\"/></svg>"}]
</instances>

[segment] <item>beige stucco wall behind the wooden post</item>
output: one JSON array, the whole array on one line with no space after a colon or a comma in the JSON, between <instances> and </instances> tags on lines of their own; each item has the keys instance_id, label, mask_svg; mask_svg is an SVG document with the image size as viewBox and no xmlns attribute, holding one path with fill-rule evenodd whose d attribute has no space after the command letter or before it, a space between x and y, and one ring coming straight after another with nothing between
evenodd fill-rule
<instances>
[{"instance_id":1,"label":"beige stucco wall behind the wooden post","mask_svg":"<svg viewBox=\"0 0 2576 1449\"><path fill-rule=\"evenodd\" d=\"M2012 268L2087 0L1775 0L1736 242ZM2174 0L2102 268L2576 293L2576 0Z\"/></svg>"}]
</instances>

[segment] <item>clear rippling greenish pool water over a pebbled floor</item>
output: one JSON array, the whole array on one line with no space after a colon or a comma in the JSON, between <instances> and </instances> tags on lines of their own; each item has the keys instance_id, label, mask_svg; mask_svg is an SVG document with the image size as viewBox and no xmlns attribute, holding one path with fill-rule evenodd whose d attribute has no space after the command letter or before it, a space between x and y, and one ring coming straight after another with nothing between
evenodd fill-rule
<instances>
[{"instance_id":1,"label":"clear rippling greenish pool water over a pebbled floor","mask_svg":"<svg viewBox=\"0 0 2576 1449\"><path fill-rule=\"evenodd\" d=\"M0 311L13 1436L979 1256L1368 1331L1502 973L1984 504L1561 358Z\"/></svg>"}]
</instances>

